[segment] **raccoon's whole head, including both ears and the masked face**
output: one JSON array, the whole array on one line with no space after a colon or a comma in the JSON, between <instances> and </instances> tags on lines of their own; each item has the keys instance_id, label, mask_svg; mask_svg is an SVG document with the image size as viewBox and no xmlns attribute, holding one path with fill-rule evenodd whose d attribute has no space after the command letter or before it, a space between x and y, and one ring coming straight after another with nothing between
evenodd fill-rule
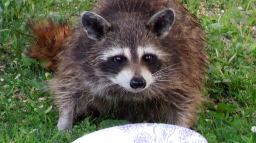
<instances>
[{"instance_id":1,"label":"raccoon's whole head, including both ears and the masked face","mask_svg":"<svg viewBox=\"0 0 256 143\"><path fill-rule=\"evenodd\" d=\"M94 39L99 72L113 84L136 93L148 89L168 54L159 39L168 35L175 19L172 9L164 9L147 21L123 15L108 22L93 12L82 14L82 24ZM99 75L100 75L99 74Z\"/></svg>"}]
</instances>

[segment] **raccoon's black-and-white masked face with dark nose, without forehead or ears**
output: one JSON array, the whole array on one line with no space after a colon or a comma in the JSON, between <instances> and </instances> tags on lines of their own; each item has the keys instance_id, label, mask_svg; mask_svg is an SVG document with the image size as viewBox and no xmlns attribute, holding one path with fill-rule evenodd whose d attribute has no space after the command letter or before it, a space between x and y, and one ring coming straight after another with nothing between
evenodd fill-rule
<instances>
[{"instance_id":1,"label":"raccoon's black-and-white masked face with dark nose, without forehead or ears","mask_svg":"<svg viewBox=\"0 0 256 143\"><path fill-rule=\"evenodd\" d=\"M100 70L108 73L109 80L130 92L140 92L154 82L152 74L159 71L162 51L153 46L131 48L110 48L100 59Z\"/></svg>"}]
</instances>

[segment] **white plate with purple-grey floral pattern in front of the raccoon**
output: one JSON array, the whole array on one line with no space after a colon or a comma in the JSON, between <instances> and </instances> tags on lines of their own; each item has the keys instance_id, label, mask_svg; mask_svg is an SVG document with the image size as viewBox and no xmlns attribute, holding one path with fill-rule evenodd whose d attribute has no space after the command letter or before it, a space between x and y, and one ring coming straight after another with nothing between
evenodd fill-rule
<instances>
[{"instance_id":1,"label":"white plate with purple-grey floral pattern in front of the raccoon","mask_svg":"<svg viewBox=\"0 0 256 143\"><path fill-rule=\"evenodd\" d=\"M137 123L92 132L73 143L207 143L199 133L181 126Z\"/></svg>"}]
</instances>

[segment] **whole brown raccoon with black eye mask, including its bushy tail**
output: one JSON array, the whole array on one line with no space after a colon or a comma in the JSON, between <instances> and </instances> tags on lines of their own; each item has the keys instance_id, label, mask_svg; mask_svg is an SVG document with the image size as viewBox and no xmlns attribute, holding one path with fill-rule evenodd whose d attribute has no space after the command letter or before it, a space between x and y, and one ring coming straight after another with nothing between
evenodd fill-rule
<instances>
[{"instance_id":1,"label":"whole brown raccoon with black eye mask, including its bushy tail","mask_svg":"<svg viewBox=\"0 0 256 143\"><path fill-rule=\"evenodd\" d=\"M80 23L34 24L27 52L55 73L59 130L91 113L193 126L205 101L205 32L178 0L101 0Z\"/></svg>"}]
</instances>

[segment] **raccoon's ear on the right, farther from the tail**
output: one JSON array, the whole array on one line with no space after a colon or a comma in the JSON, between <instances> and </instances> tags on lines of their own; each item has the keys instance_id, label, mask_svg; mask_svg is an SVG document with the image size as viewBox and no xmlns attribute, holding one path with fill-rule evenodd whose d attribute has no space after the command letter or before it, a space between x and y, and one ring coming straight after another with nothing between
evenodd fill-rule
<instances>
[{"instance_id":1,"label":"raccoon's ear on the right, farther from the tail","mask_svg":"<svg viewBox=\"0 0 256 143\"><path fill-rule=\"evenodd\" d=\"M157 36L163 38L168 35L171 26L174 23L175 12L173 9L163 9L154 14L147 23L150 30L156 33Z\"/></svg>"}]
</instances>

